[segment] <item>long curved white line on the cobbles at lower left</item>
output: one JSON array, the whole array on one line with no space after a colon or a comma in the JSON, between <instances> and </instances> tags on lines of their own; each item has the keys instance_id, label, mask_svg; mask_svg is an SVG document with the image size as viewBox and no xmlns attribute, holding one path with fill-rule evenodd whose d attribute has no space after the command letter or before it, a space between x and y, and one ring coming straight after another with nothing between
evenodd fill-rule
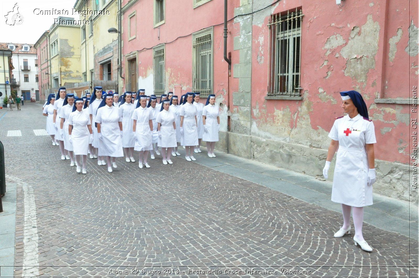
<instances>
[{"instance_id":1,"label":"long curved white line on the cobbles at lower left","mask_svg":"<svg viewBox=\"0 0 419 278\"><path fill-rule=\"evenodd\" d=\"M36 203L34 188L21 179L6 175L7 179L21 185L23 192L23 272L22 277L34 277L39 275L38 255L38 228L36 217Z\"/></svg>"}]
</instances>

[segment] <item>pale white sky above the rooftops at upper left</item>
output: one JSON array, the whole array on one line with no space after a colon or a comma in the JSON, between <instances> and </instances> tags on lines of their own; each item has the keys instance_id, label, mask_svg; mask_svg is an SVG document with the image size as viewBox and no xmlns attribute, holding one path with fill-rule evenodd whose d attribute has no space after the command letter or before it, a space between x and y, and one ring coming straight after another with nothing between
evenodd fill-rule
<instances>
[{"instance_id":1,"label":"pale white sky above the rooftops at upper left","mask_svg":"<svg viewBox=\"0 0 419 278\"><path fill-rule=\"evenodd\" d=\"M14 42L34 44L44 31L48 30L54 24L54 18L60 15L36 15L38 10L68 10L69 15L79 19L78 14L72 15L72 8L75 0L0 0L0 42ZM20 25L10 26L6 24L5 15L13 10L15 4L19 6L19 13L23 17Z\"/></svg>"}]
</instances>

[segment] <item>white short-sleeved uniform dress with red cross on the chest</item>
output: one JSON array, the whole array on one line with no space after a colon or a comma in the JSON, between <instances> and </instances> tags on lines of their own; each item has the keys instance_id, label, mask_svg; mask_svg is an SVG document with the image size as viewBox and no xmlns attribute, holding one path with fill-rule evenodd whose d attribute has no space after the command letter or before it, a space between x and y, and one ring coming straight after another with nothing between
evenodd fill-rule
<instances>
[{"instance_id":1,"label":"white short-sleeved uniform dress with red cross on the chest","mask_svg":"<svg viewBox=\"0 0 419 278\"><path fill-rule=\"evenodd\" d=\"M365 144L377 142L374 124L360 114L352 119L348 115L336 118L329 137L339 141L331 200L356 207L372 205Z\"/></svg>"}]
</instances>

